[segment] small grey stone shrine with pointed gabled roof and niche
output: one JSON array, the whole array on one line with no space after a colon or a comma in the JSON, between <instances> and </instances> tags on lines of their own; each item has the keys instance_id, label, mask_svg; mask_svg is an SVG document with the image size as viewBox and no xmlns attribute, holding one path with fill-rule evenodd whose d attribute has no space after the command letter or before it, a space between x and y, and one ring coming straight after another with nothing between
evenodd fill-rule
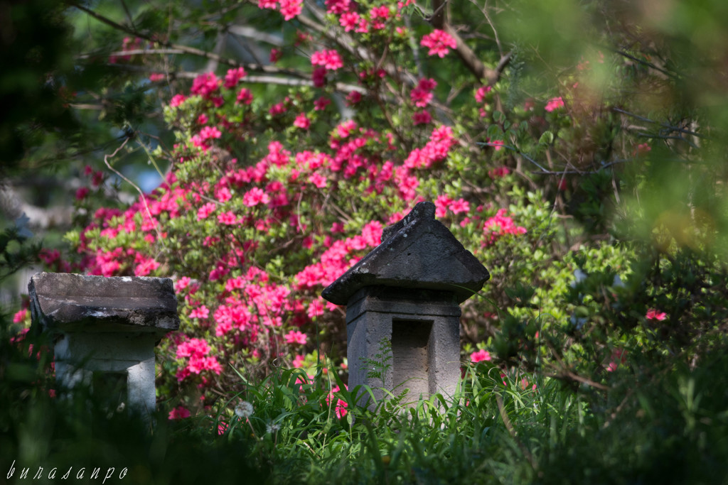
<instances>
[{"instance_id":1,"label":"small grey stone shrine with pointed gabled roof and niche","mask_svg":"<svg viewBox=\"0 0 728 485\"><path fill-rule=\"evenodd\" d=\"M347 305L349 389L366 384L397 396L407 388L409 402L453 396L460 377L459 304L490 274L435 220L432 202L417 204L381 239L322 293ZM383 348L391 355L377 357ZM376 369L375 362L384 366ZM371 377L373 370L383 378ZM374 395L380 400L384 392Z\"/></svg>"}]
</instances>

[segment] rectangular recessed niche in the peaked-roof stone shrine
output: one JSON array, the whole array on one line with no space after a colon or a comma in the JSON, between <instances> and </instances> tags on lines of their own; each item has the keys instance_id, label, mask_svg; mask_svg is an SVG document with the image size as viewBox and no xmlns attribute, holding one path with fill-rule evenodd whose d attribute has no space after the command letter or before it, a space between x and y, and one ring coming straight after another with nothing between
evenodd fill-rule
<instances>
[{"instance_id":1,"label":"rectangular recessed niche in the peaked-roof stone shrine","mask_svg":"<svg viewBox=\"0 0 728 485\"><path fill-rule=\"evenodd\" d=\"M432 321L392 320L392 388L409 389L405 401L430 397Z\"/></svg>"}]
</instances>

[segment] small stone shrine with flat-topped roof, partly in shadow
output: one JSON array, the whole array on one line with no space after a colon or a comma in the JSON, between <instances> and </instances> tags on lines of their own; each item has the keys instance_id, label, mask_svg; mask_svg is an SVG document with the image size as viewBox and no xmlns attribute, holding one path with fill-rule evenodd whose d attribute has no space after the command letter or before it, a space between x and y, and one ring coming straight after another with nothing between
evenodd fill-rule
<instances>
[{"instance_id":1,"label":"small stone shrine with flat-topped roof, partly in shadow","mask_svg":"<svg viewBox=\"0 0 728 485\"><path fill-rule=\"evenodd\" d=\"M84 383L117 409L154 411L154 346L179 328L172 280L36 273L28 294L33 325L54 337L60 388Z\"/></svg>"}]
</instances>

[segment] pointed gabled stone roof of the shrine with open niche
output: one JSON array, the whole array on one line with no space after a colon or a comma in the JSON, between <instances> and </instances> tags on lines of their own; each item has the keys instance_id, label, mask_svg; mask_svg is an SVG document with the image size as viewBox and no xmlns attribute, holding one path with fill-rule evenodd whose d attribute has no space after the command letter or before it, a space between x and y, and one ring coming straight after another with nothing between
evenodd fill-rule
<instances>
[{"instance_id":1,"label":"pointed gabled stone roof of the shrine with open niche","mask_svg":"<svg viewBox=\"0 0 728 485\"><path fill-rule=\"evenodd\" d=\"M435 204L420 202L400 222L384 228L382 242L327 286L321 295L346 305L365 286L436 289L464 302L483 288L488 270L443 223Z\"/></svg>"}]
</instances>

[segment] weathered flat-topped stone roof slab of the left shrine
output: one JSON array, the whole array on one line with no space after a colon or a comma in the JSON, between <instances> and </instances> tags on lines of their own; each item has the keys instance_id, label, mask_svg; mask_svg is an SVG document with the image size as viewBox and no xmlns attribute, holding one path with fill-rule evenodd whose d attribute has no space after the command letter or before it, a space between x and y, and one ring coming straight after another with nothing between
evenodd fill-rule
<instances>
[{"instance_id":1,"label":"weathered flat-topped stone roof slab of the left shrine","mask_svg":"<svg viewBox=\"0 0 728 485\"><path fill-rule=\"evenodd\" d=\"M60 332L156 332L179 329L169 278L37 273L28 284L33 321Z\"/></svg>"}]
</instances>

